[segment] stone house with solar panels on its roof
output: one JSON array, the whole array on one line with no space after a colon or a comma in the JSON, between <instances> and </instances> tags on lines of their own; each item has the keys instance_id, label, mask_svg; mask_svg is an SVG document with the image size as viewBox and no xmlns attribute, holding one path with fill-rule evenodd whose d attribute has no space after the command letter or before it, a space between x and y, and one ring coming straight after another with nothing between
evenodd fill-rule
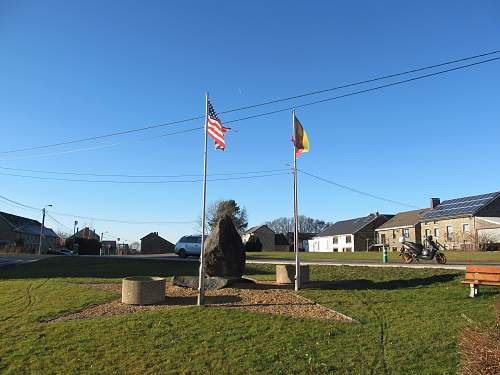
<instances>
[{"instance_id":1,"label":"stone house with solar panels on its roof","mask_svg":"<svg viewBox=\"0 0 500 375\"><path fill-rule=\"evenodd\" d=\"M481 218L500 218L500 192L473 195L440 202L432 199L432 210L421 220L421 235L432 235L451 250L476 248L478 231L484 226Z\"/></svg>"}]
</instances>

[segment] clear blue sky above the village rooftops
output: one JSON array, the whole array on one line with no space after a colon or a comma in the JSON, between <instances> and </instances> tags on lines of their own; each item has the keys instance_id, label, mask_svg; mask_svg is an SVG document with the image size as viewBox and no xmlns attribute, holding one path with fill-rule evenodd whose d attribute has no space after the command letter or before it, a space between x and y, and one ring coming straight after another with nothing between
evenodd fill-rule
<instances>
[{"instance_id":1,"label":"clear blue sky above the village rooftops","mask_svg":"<svg viewBox=\"0 0 500 375\"><path fill-rule=\"evenodd\" d=\"M499 16L496 1L0 2L0 151L199 115L205 90L222 112L498 50ZM427 206L431 196L500 190L499 69L500 62L492 62L302 108L297 114L311 152L299 158L299 167L417 207ZM355 89L221 118L228 121ZM284 112L231 124L227 151L210 148L209 172L286 168L292 157L290 117ZM202 125L194 121L0 154L0 167L199 174L203 132L140 139ZM127 143L72 152L115 142ZM193 221L201 209L201 183L125 185L1 174L0 179L1 195L36 207L50 203L53 212L124 221ZM211 182L208 201L233 198L247 208L250 224L259 224L291 216L291 181L282 175ZM299 200L302 214L329 221L406 209L308 176L299 178ZM0 210L38 216L3 201ZM53 216L70 227L74 220ZM78 220L80 226L129 241L151 231L176 241L196 227ZM48 224L68 231L51 220Z\"/></svg>"}]
</instances>

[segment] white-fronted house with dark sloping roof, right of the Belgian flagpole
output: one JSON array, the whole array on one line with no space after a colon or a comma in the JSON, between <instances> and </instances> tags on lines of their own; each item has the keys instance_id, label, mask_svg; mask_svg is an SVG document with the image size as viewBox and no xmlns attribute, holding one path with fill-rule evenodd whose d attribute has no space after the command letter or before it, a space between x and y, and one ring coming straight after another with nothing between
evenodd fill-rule
<instances>
[{"instance_id":1,"label":"white-fronted house with dark sloping roof, right of the Belgian flagpole","mask_svg":"<svg viewBox=\"0 0 500 375\"><path fill-rule=\"evenodd\" d=\"M309 252L366 251L375 242L375 229L394 215L374 213L356 219L337 221L309 240Z\"/></svg>"}]
</instances>

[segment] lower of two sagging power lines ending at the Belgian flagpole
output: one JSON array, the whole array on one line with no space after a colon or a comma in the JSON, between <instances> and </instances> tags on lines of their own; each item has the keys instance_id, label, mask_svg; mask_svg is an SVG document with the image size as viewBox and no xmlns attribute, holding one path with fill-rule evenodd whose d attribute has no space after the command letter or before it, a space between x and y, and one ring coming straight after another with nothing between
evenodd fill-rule
<instances>
[{"instance_id":1,"label":"lower of two sagging power lines ending at the Belgian flagpole","mask_svg":"<svg viewBox=\"0 0 500 375\"><path fill-rule=\"evenodd\" d=\"M238 176L238 177L220 177L220 178L211 178L207 179L210 182L216 181L230 181L230 180L248 180L253 178L264 178L264 177L272 177L272 176L283 176L289 175L290 172L283 173L268 173L268 174L260 174L254 176ZM155 180L145 180L145 181L123 181L123 180L88 180L88 179L72 179L72 178L60 178L60 177L47 177L47 176L27 176L17 173L4 173L0 172L2 176L11 176L11 177L21 177L35 180L48 180L48 181L63 181L63 182L86 182L86 183L106 183L106 184L175 184L175 183L195 183L201 182L202 179L195 180L168 180L168 181L155 181Z\"/></svg>"}]
</instances>

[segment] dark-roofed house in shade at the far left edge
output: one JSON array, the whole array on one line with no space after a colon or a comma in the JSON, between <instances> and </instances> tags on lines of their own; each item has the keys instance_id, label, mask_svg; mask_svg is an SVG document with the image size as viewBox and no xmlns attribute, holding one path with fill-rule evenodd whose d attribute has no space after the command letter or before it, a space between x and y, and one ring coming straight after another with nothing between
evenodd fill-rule
<instances>
[{"instance_id":1,"label":"dark-roofed house in shade at the far left edge","mask_svg":"<svg viewBox=\"0 0 500 375\"><path fill-rule=\"evenodd\" d=\"M31 254L38 252L41 226L38 220L0 212L0 247L9 246ZM59 236L52 229L44 227L43 236L42 253L59 247Z\"/></svg>"}]
</instances>

